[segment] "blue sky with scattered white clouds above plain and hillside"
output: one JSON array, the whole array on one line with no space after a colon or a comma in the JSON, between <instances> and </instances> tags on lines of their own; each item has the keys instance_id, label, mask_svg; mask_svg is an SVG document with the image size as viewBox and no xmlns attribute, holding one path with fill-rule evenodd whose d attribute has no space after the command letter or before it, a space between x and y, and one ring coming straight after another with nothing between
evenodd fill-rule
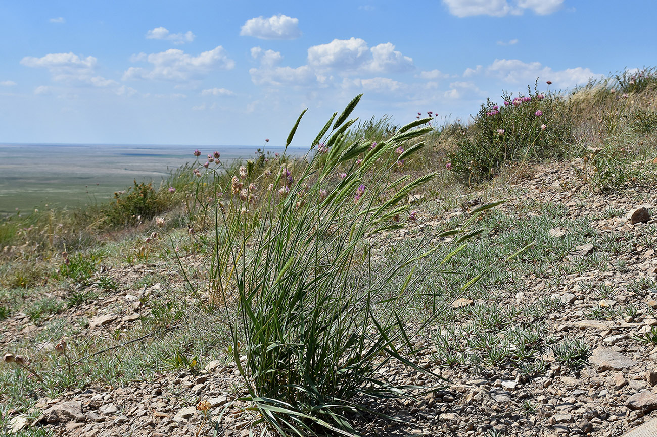
<instances>
[{"instance_id":1,"label":"blue sky with scattered white clouds above plain and hillside","mask_svg":"<svg viewBox=\"0 0 657 437\"><path fill-rule=\"evenodd\" d=\"M0 0L0 141L296 146L656 64L647 0Z\"/></svg>"}]
</instances>

